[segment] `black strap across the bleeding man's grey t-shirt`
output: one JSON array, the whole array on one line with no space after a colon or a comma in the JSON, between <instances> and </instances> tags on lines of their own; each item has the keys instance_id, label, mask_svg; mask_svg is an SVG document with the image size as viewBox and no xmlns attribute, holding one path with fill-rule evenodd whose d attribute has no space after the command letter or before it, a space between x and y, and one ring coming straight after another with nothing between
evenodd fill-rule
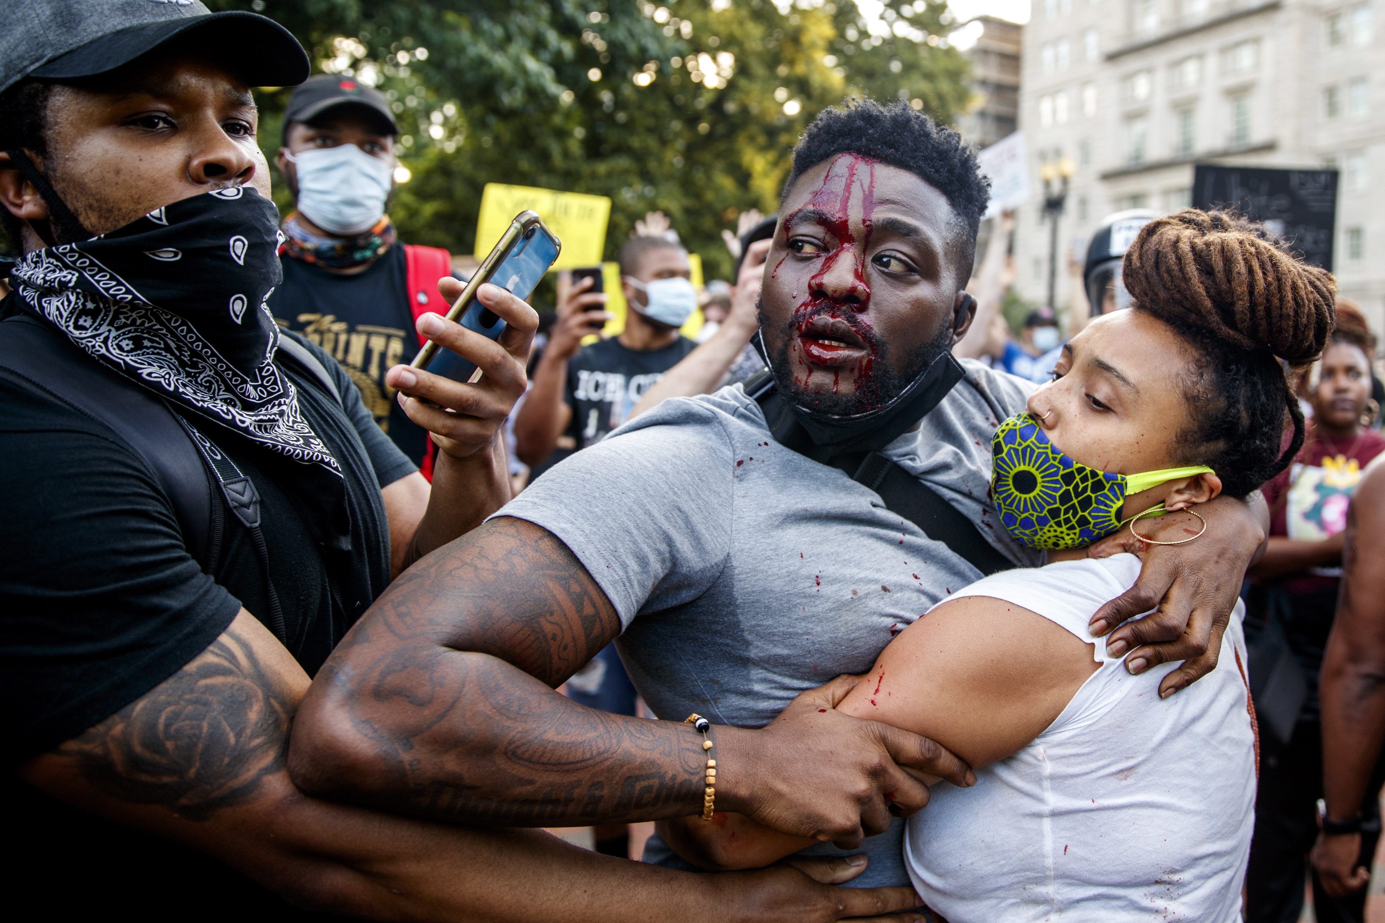
<instances>
[{"instance_id":1,"label":"black strap across the bleeding man's grey t-shirt","mask_svg":"<svg viewBox=\"0 0 1385 923\"><path fill-rule=\"evenodd\" d=\"M765 369L752 375L744 385L745 393L752 397L765 411L765 418L770 419L769 403L780 400L774 387L774 375ZM770 430L773 433L773 428ZM788 446L776 437L781 446ZM794 446L788 446L794 448ZM795 451L798 451L795 448ZM943 542L947 548L964 558L972 567L983 574L993 574L1001 570L1012 570L1014 563L986 541L967 516L949 504L938 491L918 480L899 462L885 455L868 453L855 472L848 472L859 484L870 487L885 502L885 509L903 516L929 538Z\"/></svg>"}]
</instances>

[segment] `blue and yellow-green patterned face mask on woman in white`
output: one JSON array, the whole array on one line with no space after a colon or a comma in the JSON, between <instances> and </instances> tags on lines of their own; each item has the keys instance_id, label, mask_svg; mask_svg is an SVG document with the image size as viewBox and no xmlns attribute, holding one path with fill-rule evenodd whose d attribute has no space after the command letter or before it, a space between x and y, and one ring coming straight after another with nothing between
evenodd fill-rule
<instances>
[{"instance_id":1,"label":"blue and yellow-green patterned face mask on woman in white","mask_svg":"<svg viewBox=\"0 0 1385 923\"><path fill-rule=\"evenodd\" d=\"M1125 498L1177 477L1213 473L1206 465L1114 475L1073 461L1029 414L1015 414L990 441L990 500L1000 522L1030 548L1080 548L1125 520Z\"/></svg>"}]
</instances>

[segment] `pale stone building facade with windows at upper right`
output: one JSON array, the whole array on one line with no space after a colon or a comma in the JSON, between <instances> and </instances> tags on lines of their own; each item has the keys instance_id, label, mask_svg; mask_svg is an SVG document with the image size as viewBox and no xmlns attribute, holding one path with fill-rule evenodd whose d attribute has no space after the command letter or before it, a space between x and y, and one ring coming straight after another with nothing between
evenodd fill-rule
<instances>
[{"instance_id":1,"label":"pale stone building facade with windows at upper right","mask_svg":"<svg viewBox=\"0 0 1385 923\"><path fill-rule=\"evenodd\" d=\"M1385 329L1382 0L1035 0L1019 127L1036 190L1018 216L1025 299L1046 298L1046 161L1076 167L1058 235L1060 304L1066 262L1101 219L1188 205L1194 163L1331 166L1332 268L1342 295Z\"/></svg>"}]
</instances>

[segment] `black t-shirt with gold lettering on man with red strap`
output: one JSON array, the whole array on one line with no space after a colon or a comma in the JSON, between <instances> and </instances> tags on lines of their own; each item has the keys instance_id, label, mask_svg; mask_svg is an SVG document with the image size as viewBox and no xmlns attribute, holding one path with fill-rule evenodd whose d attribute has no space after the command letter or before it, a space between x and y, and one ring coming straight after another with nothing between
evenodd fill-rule
<instances>
[{"instance_id":1,"label":"black t-shirt with gold lettering on man with red strap","mask_svg":"<svg viewBox=\"0 0 1385 923\"><path fill-rule=\"evenodd\" d=\"M363 271L331 273L320 266L280 259L284 281L269 298L274 318L327 350L360 389L366 410L414 465L422 464L428 430L418 426L385 385L385 372L418 353L418 333L409 306L404 248L396 244ZM445 313L442 302L431 307ZM450 353L429 371L446 375Z\"/></svg>"}]
</instances>

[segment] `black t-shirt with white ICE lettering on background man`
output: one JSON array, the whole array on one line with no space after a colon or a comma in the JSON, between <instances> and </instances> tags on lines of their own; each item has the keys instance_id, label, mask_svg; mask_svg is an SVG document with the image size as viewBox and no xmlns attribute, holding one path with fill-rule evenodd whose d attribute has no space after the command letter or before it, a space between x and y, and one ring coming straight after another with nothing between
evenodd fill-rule
<instances>
[{"instance_id":1,"label":"black t-shirt with white ICE lettering on background man","mask_svg":"<svg viewBox=\"0 0 1385 923\"><path fill-rule=\"evenodd\" d=\"M568 436L578 448L605 439L625 422L640 397L697 343L679 336L663 349L634 350L611 338L583 346L568 360L564 400L572 408Z\"/></svg>"}]
</instances>

